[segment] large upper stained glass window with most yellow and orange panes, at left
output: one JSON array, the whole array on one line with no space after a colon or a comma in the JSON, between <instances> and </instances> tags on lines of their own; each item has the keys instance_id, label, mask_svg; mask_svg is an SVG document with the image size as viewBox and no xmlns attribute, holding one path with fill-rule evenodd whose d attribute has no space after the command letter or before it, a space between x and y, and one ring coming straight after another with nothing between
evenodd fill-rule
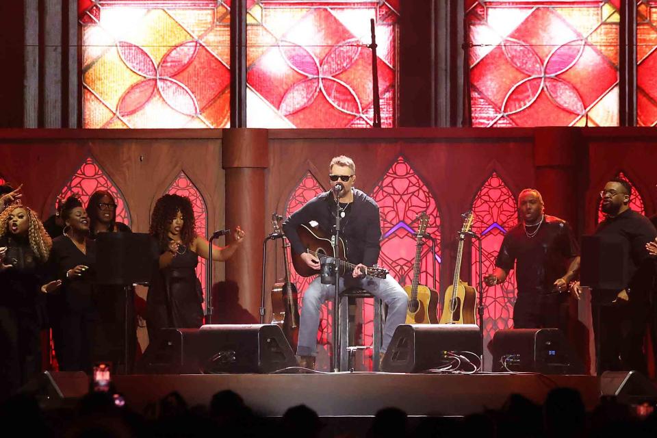
<instances>
[{"instance_id":1,"label":"large upper stained glass window with most yellow and orange panes, at left","mask_svg":"<svg viewBox=\"0 0 657 438\"><path fill-rule=\"evenodd\" d=\"M83 127L227 127L227 2L79 5Z\"/></svg>"}]
</instances>

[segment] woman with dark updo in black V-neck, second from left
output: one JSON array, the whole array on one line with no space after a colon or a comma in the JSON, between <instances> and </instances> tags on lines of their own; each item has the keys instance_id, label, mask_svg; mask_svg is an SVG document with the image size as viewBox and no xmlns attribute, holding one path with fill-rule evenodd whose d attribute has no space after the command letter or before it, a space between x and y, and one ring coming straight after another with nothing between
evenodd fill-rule
<instances>
[{"instance_id":1,"label":"woman with dark updo in black V-neck, second from left","mask_svg":"<svg viewBox=\"0 0 657 438\"><path fill-rule=\"evenodd\" d=\"M53 240L49 274L60 280L50 314L55 353L61 371L90 371L94 361L98 313L93 275L96 248L88 239L89 218L81 201L70 196L62 207L64 235Z\"/></svg>"}]
</instances>

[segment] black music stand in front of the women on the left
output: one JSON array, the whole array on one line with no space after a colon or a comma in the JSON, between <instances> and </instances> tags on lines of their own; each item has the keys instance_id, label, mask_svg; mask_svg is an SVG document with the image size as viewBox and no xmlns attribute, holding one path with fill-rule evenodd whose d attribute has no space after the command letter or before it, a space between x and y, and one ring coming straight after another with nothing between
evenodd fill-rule
<instances>
[{"instance_id":1,"label":"black music stand in front of the women on the left","mask_svg":"<svg viewBox=\"0 0 657 438\"><path fill-rule=\"evenodd\" d=\"M96 238L96 284L123 286L123 361L128 363L128 303L133 285L149 283L157 263L157 246L147 233L99 233Z\"/></svg>"}]
</instances>

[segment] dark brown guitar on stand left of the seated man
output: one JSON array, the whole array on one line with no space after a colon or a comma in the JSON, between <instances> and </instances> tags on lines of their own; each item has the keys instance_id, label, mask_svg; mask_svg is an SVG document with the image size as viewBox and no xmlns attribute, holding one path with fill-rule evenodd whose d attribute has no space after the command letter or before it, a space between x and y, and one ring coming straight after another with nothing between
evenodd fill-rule
<instances>
[{"instance_id":1,"label":"dark brown guitar on stand left of the seated man","mask_svg":"<svg viewBox=\"0 0 657 438\"><path fill-rule=\"evenodd\" d=\"M272 214L272 227L274 233L283 234L279 220L283 217ZM289 242L283 235L283 279L274 283L272 287L272 324L281 327L289 342L289 346L296 351L299 341L299 301L298 292L294 283L289 281L289 268L287 265L287 248Z\"/></svg>"}]
</instances>

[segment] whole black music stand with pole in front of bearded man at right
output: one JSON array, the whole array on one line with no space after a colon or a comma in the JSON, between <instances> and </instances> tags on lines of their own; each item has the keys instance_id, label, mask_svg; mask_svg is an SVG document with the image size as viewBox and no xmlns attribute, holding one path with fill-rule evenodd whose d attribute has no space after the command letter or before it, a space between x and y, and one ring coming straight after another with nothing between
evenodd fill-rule
<instances>
[{"instance_id":1,"label":"whole black music stand with pole in front of bearded man at right","mask_svg":"<svg viewBox=\"0 0 657 438\"><path fill-rule=\"evenodd\" d=\"M601 373L602 343L600 317L602 307L613 305L628 279L629 244L618 235L582 236L580 285L591 289L591 307L595 311L595 370Z\"/></svg>"}]
</instances>

